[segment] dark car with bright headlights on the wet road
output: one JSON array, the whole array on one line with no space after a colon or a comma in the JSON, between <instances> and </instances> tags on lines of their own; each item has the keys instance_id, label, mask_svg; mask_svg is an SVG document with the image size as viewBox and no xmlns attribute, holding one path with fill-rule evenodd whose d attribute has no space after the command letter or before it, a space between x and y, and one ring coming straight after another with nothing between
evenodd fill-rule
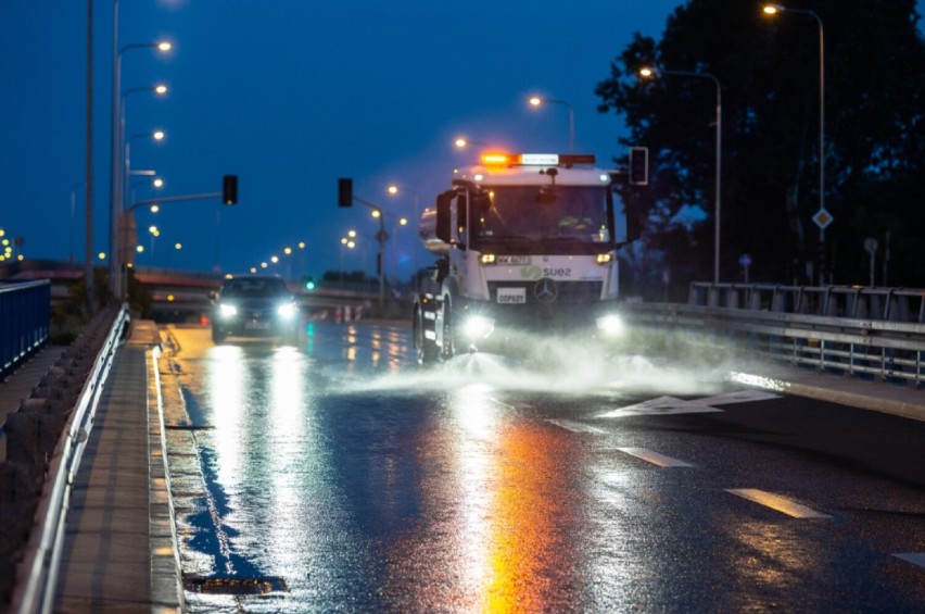
<instances>
[{"instance_id":1,"label":"dark car with bright headlights on the wet road","mask_svg":"<svg viewBox=\"0 0 925 614\"><path fill-rule=\"evenodd\" d=\"M226 279L212 299L212 340L216 343L228 337L279 337L284 343L297 338L299 305L279 277Z\"/></svg>"}]
</instances>

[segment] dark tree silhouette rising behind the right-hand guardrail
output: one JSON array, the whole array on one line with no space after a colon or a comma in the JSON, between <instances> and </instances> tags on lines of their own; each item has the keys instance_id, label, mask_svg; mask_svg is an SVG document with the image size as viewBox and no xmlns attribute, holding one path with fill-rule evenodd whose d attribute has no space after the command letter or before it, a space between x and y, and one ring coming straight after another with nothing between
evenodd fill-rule
<instances>
[{"instance_id":1,"label":"dark tree silhouette rising behind the right-hand guardrail","mask_svg":"<svg viewBox=\"0 0 925 614\"><path fill-rule=\"evenodd\" d=\"M825 242L819 210L819 26L737 0L692 0L660 41L635 35L599 83L601 112L647 146L650 185L624 187L649 212L628 259L637 281L712 279L715 86L722 85L721 279L869 281L864 239L889 237L890 285L925 286L925 41L914 0L803 0L825 28ZM662 74L638 77L642 66ZM669 74L666 74L669 73ZM618 160L625 162L625 160ZM883 271L886 271L885 268ZM880 266L877 284L884 284Z\"/></svg>"}]
</instances>

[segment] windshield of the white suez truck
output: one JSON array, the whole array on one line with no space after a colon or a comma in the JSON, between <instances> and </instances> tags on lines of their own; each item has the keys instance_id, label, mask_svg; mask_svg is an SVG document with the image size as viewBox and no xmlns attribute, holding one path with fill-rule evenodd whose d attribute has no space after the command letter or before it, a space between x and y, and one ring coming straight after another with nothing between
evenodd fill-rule
<instances>
[{"instance_id":1,"label":"windshield of the white suez truck","mask_svg":"<svg viewBox=\"0 0 925 614\"><path fill-rule=\"evenodd\" d=\"M489 188L487 196L485 205L473 208L477 243L560 240L599 249L611 240L604 187L505 186Z\"/></svg>"}]
</instances>

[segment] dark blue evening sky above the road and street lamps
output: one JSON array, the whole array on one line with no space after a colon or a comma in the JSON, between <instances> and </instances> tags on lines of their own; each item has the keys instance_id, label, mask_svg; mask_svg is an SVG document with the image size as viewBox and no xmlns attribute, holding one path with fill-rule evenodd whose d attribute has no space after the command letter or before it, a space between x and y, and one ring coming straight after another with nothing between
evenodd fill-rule
<instances>
[{"instance_id":1,"label":"dark blue evening sky above the road and street lamps","mask_svg":"<svg viewBox=\"0 0 925 614\"><path fill-rule=\"evenodd\" d=\"M119 48L166 38L166 57L132 49L123 89L170 92L126 99L134 168L153 168L167 196L217 191L240 177L240 202L164 205L138 215L140 265L241 272L307 245L294 263L319 276L375 270L368 210L337 206L337 178L387 210L391 226L448 186L457 135L509 150L567 151L568 110L532 109L531 93L570 102L576 150L609 165L623 152L620 118L596 111L594 87L634 30L660 37L679 0L121 0ZM112 0L93 2L94 247L109 251ZM0 3L0 228L29 259L67 260L71 192L84 181L87 2ZM138 199L152 191L140 183ZM74 252L84 254L84 191L76 191ZM220 223L217 212L220 213ZM147 228L156 224L154 242ZM369 247L342 252L347 229ZM363 241L363 239L366 241ZM429 260L411 227L390 246L403 277ZM177 251L174 243L182 243ZM396 249L397 248L397 249ZM365 252L365 253L364 253ZM304 261L302 260L304 258ZM400 264L395 260L401 259ZM282 267L276 270L287 271ZM290 270L292 271L292 270ZM292 271L292 272L295 272Z\"/></svg>"}]
</instances>

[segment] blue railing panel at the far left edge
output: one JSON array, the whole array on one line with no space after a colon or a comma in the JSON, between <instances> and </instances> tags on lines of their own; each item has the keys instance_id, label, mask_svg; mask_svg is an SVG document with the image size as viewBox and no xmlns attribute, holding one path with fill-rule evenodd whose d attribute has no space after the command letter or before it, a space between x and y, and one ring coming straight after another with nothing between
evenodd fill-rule
<instances>
[{"instance_id":1,"label":"blue railing panel at the far left edge","mask_svg":"<svg viewBox=\"0 0 925 614\"><path fill-rule=\"evenodd\" d=\"M0 378L48 341L51 284L0 285Z\"/></svg>"}]
</instances>

